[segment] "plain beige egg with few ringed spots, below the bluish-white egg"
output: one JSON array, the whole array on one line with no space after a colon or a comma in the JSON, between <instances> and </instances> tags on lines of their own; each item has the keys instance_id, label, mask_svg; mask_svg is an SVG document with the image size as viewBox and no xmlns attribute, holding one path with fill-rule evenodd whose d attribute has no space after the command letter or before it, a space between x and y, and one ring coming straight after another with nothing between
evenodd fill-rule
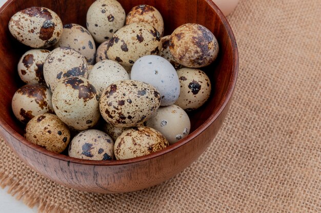
<instances>
[{"instance_id":1,"label":"plain beige egg with few ringed spots, below the bluish-white egg","mask_svg":"<svg viewBox=\"0 0 321 213\"><path fill-rule=\"evenodd\" d=\"M191 122L184 109L171 105L159 107L146 121L146 126L162 133L172 145L189 134Z\"/></svg>"}]
</instances>

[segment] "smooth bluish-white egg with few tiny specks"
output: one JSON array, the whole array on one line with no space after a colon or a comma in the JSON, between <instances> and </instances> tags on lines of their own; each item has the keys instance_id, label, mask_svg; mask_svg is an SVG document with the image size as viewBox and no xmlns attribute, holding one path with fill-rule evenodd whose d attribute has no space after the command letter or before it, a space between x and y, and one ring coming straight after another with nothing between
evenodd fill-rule
<instances>
[{"instance_id":1,"label":"smooth bluish-white egg with few tiny specks","mask_svg":"<svg viewBox=\"0 0 321 213\"><path fill-rule=\"evenodd\" d=\"M160 106L175 103L179 96L179 80L173 65L160 56L139 58L131 69L131 79L143 81L158 89Z\"/></svg>"}]
</instances>

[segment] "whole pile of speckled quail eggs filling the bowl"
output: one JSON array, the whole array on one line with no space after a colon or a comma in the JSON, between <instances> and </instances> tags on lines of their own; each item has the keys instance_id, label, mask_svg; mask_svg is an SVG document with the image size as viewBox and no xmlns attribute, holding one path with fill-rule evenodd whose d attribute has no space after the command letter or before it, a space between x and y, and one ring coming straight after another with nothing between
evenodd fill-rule
<instances>
[{"instance_id":1,"label":"whole pile of speckled quail eggs filling the bowl","mask_svg":"<svg viewBox=\"0 0 321 213\"><path fill-rule=\"evenodd\" d=\"M63 25L44 7L11 17L11 34L33 48L18 62L26 85L12 99L27 140L55 153L68 147L75 158L118 160L186 137L186 111L210 96L211 82L198 68L216 59L215 36L187 23L163 37L156 8L138 5L126 16L115 0L95 1L86 27Z\"/></svg>"}]
</instances>

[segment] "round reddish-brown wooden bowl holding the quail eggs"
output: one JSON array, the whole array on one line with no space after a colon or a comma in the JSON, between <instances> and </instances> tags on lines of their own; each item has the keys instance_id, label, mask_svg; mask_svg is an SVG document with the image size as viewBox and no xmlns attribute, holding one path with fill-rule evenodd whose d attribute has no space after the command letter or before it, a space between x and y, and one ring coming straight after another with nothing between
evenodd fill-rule
<instances>
[{"instance_id":1,"label":"round reddish-brown wooden bowl holding the quail eggs","mask_svg":"<svg viewBox=\"0 0 321 213\"><path fill-rule=\"evenodd\" d=\"M24 125L11 110L14 92L23 85L17 74L17 63L27 46L16 41L8 30L10 17L32 6L55 11L63 23L86 26L86 13L94 0L11 0L0 9L0 134L9 147L33 170L59 184L77 190L96 193L137 191L159 184L188 167L214 139L231 104L238 72L236 41L225 16L211 0L118 0L128 12L139 4L149 4L162 13L165 35L184 23L199 23L216 36L219 55L203 70L212 82L209 101L190 113L191 133L164 150L143 157L90 161L51 153L29 143L24 137Z\"/></svg>"}]
</instances>

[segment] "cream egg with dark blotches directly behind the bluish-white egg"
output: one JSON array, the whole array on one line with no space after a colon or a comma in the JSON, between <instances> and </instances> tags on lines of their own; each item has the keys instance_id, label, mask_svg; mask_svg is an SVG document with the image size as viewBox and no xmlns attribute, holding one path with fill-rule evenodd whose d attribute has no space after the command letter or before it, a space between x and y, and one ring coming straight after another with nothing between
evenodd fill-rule
<instances>
[{"instance_id":1,"label":"cream egg with dark blotches directly behind the bluish-white egg","mask_svg":"<svg viewBox=\"0 0 321 213\"><path fill-rule=\"evenodd\" d=\"M110 39L107 55L110 60L132 66L138 58L158 55L162 49L160 34L148 23L131 23L119 29Z\"/></svg>"}]
</instances>

